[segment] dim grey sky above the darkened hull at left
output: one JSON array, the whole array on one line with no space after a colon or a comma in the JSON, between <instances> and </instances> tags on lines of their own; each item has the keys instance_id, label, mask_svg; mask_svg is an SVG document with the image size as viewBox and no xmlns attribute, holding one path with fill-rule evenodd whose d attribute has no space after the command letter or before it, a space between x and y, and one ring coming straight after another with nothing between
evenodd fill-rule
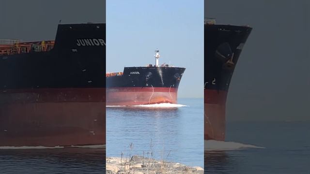
<instances>
[{"instance_id":1,"label":"dim grey sky above the darkened hull at left","mask_svg":"<svg viewBox=\"0 0 310 174\"><path fill-rule=\"evenodd\" d=\"M59 20L102 23L106 0L1 0L0 39L54 40Z\"/></svg>"}]
</instances>

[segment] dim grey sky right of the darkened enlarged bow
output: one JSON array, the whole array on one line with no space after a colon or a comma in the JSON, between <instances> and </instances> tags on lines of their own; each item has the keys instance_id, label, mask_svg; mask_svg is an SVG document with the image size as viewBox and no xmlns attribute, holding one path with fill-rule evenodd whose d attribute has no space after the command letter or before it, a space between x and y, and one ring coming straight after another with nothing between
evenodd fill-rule
<instances>
[{"instance_id":1,"label":"dim grey sky right of the darkened enlarged bow","mask_svg":"<svg viewBox=\"0 0 310 174\"><path fill-rule=\"evenodd\" d=\"M310 120L309 0L206 0L205 16L253 30L233 74L227 120Z\"/></svg>"}]
</instances>

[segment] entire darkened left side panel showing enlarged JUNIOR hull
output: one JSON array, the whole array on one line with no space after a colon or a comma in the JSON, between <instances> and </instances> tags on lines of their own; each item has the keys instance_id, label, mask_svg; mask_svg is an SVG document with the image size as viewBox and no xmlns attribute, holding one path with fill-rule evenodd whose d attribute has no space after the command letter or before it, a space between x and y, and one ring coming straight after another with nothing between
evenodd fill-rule
<instances>
[{"instance_id":1,"label":"entire darkened left side panel showing enlarged JUNIOR hull","mask_svg":"<svg viewBox=\"0 0 310 174\"><path fill-rule=\"evenodd\" d=\"M0 19L1 173L105 172L105 0L3 0Z\"/></svg>"}]
</instances>

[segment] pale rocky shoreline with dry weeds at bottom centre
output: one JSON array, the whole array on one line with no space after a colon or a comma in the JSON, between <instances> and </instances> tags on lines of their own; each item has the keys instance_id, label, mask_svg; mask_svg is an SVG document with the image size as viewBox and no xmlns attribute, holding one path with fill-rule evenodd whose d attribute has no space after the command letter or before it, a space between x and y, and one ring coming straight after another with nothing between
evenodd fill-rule
<instances>
[{"instance_id":1,"label":"pale rocky shoreline with dry weeds at bottom centre","mask_svg":"<svg viewBox=\"0 0 310 174\"><path fill-rule=\"evenodd\" d=\"M203 174L202 167L189 167L178 162L154 160L141 156L107 157L107 174Z\"/></svg>"}]
</instances>

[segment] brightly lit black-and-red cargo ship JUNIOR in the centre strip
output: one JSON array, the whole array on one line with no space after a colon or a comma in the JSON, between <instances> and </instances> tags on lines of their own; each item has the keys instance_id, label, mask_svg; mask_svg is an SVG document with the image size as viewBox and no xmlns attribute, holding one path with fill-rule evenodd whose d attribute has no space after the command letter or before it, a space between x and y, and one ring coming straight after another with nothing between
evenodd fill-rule
<instances>
[{"instance_id":1,"label":"brightly lit black-and-red cargo ship JUNIOR in the centre strip","mask_svg":"<svg viewBox=\"0 0 310 174\"><path fill-rule=\"evenodd\" d=\"M159 65L158 49L154 57L155 65L124 67L123 72L106 73L107 106L177 103L185 68Z\"/></svg>"}]
</instances>

